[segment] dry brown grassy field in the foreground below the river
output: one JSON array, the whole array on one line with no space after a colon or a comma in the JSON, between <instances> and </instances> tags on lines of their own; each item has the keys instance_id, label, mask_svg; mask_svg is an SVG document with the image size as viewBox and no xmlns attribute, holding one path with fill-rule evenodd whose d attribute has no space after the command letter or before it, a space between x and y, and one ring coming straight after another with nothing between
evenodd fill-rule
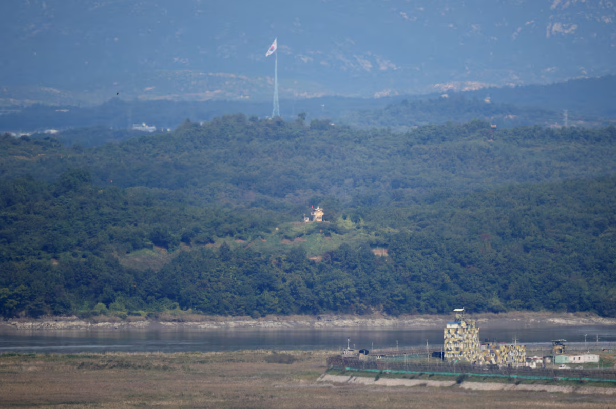
<instances>
[{"instance_id":1,"label":"dry brown grassy field in the foreground below the river","mask_svg":"<svg viewBox=\"0 0 616 409\"><path fill-rule=\"evenodd\" d=\"M317 383L332 351L0 354L1 407L608 408L610 395Z\"/></svg>"}]
</instances>

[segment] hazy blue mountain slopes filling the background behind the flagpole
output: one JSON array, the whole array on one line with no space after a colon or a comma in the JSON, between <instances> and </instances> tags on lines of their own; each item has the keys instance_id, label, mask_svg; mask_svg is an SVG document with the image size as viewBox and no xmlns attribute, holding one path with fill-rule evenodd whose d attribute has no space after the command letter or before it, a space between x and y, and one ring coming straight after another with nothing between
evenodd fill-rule
<instances>
[{"instance_id":1,"label":"hazy blue mountain slopes filling the background behind the flagpole","mask_svg":"<svg viewBox=\"0 0 616 409\"><path fill-rule=\"evenodd\" d=\"M599 0L2 2L0 103L382 97L614 74Z\"/></svg>"}]
</instances>

